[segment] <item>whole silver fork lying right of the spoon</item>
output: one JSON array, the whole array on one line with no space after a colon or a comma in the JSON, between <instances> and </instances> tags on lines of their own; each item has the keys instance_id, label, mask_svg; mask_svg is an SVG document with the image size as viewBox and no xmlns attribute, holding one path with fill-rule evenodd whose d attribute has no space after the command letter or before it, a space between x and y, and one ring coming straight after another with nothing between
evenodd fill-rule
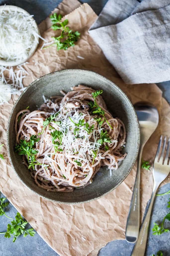
<instances>
[{"instance_id":1,"label":"whole silver fork lying right of the spoon","mask_svg":"<svg viewBox=\"0 0 170 256\"><path fill-rule=\"evenodd\" d=\"M161 144L162 144L162 135L159 140L159 144L158 144L158 148L156 151L154 164L153 164L154 185L153 185L152 196L150 199L150 203L149 203L145 218L143 219L143 222L139 231L138 240L133 248L131 256L144 256L145 254L148 229L149 229L149 221L150 221L150 216L151 216L151 211L152 211L152 206L153 206L154 198L156 195L156 191L159 185L161 184L161 182L163 182L163 180L168 176L170 171L170 164L168 164L170 138L168 139L165 159L164 159L164 153L165 153L165 146L166 146L166 136L164 137L162 152L159 158Z\"/></svg>"}]
</instances>

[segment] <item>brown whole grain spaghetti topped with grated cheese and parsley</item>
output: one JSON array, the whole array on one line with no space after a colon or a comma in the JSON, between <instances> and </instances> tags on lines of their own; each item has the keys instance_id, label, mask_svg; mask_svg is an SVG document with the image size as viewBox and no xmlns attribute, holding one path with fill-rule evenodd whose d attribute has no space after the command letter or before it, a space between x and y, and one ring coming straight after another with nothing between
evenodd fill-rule
<instances>
[{"instance_id":1,"label":"brown whole grain spaghetti topped with grated cheese and parsley","mask_svg":"<svg viewBox=\"0 0 170 256\"><path fill-rule=\"evenodd\" d=\"M118 168L126 154L123 122L95 91L79 85L46 100L39 110L16 115L16 151L35 183L48 191L73 191L92 182L100 166ZM64 92L62 92L64 94Z\"/></svg>"}]
</instances>

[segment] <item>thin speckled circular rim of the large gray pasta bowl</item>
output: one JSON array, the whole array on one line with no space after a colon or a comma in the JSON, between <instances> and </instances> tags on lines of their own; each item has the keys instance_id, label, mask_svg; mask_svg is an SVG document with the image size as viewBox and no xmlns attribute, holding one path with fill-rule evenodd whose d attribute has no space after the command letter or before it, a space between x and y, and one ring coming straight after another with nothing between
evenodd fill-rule
<instances>
[{"instance_id":1,"label":"thin speckled circular rim of the large gray pasta bowl","mask_svg":"<svg viewBox=\"0 0 170 256\"><path fill-rule=\"evenodd\" d=\"M22 98L22 95L27 91L29 90L34 84L36 84L37 81L45 78L45 77L50 77L52 76L54 73L67 73L67 72L86 72L87 74L94 74L95 76L99 77L99 78L102 78L104 79L105 81L107 81L108 83L110 83L111 86L114 86L116 87L116 89L123 95L123 97L126 99L126 101L129 103L130 107L132 108L132 111L133 111L133 114L135 115L135 119L136 119L136 127L137 127L137 136L138 136L138 140L137 140L137 151L136 151L136 154L134 156L134 159L133 159L133 162L130 166L130 168L127 170L126 174L123 176L123 178L120 180L119 183L117 183L113 188L111 188L110 190L108 190L106 193L102 194L102 195L99 195L99 196L96 196L92 199L88 199L88 200L82 200L82 201L78 201L78 202L63 202L63 201L59 201L59 200L54 200L54 199L50 199L48 198L47 196L42 196L40 193L36 192L35 190L33 190L29 185L27 185L19 176L19 174L17 173L17 170L15 169L13 163L12 163L12 158L11 158L11 154L10 154L10 147L9 147L9 128L10 128L10 122L11 122L11 118L12 118L12 115L13 115L13 112L19 102L19 100ZM107 79L106 77L104 76L101 76L100 74L96 73L96 72L93 72L93 71L89 71L89 70L84 70L84 69L64 69L64 70L59 70L59 71L55 71L55 72L51 72L51 73L48 73L48 74L45 74L44 76L40 77L40 78L37 78L36 80L34 80L32 83L29 84L29 86L26 87L26 89L21 93L21 95L18 97L17 101L15 102L13 108L12 108L12 111L10 113L10 116L9 116L9 120L8 120L8 125L7 125L7 152L8 152L8 157L9 157L9 161L10 161L10 164L15 172L15 174L17 175L17 177L20 179L20 181L27 187L29 188L34 194L36 194L37 196L40 196L48 201L52 201L52 202L56 202L56 203L59 203L59 204L72 204L72 205L75 205L75 204L83 204L83 203L86 203L86 202L90 202L90 201L94 201L96 199L99 199L103 196L106 196L107 194L109 194L111 191L113 191L115 188L117 188L124 180L125 178L129 175L130 171L132 170L136 160L137 160L137 157L138 157L138 153L139 153L139 148L140 148L140 128L139 128L139 122L138 122L138 118L137 118L137 114L135 112L135 109L132 105L132 103L130 102L130 100L128 99L127 95L116 85L114 84L112 81L110 81L109 79ZM59 193L59 192L57 192Z\"/></svg>"}]
</instances>

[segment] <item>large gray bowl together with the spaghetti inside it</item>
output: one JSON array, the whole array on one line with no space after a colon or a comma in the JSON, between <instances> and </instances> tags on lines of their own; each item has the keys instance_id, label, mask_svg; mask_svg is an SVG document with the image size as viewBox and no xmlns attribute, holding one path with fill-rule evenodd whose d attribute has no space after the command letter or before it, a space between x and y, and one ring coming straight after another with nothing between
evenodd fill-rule
<instances>
[{"instance_id":1,"label":"large gray bowl together with the spaghetti inside it","mask_svg":"<svg viewBox=\"0 0 170 256\"><path fill-rule=\"evenodd\" d=\"M116 188L136 161L139 140L127 96L108 79L76 69L30 84L7 128L8 155L20 180L41 197L69 204Z\"/></svg>"}]
</instances>

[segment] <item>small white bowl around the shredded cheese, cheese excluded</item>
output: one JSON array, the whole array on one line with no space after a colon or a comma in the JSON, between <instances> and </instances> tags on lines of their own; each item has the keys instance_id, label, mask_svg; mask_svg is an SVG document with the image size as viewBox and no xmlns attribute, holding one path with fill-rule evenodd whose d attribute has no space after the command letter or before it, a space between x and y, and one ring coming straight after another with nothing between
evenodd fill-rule
<instances>
[{"instance_id":1,"label":"small white bowl around the shredded cheese, cheese excluded","mask_svg":"<svg viewBox=\"0 0 170 256\"><path fill-rule=\"evenodd\" d=\"M14 6L14 5L6 5L6 6L3 5L3 6L0 6L0 13L1 13L1 10L2 10L2 9L7 10L7 11L8 11L8 10L11 10L11 11L18 11L18 12L20 12L20 13L24 13L24 14L30 15L30 14L29 14L27 11L25 11L24 9L22 9L22 8L20 8L20 7L17 7L17 6ZM33 17L31 17L31 19L34 20ZM38 28L36 22L33 23L33 26L35 27L36 33L40 35L40 31L39 31L39 28ZM26 61L34 54L34 52L36 51L36 48L37 48L38 44L39 44L39 37L38 37L38 43L37 43L36 41L34 41L33 46L32 46L32 48L31 48L30 51L29 51L28 57L27 57L26 59L23 59L22 62L21 62L21 61L15 61L15 60L6 61L6 60L3 60L3 59L0 58L0 65L12 67L12 66L18 66L18 65L20 65L20 64L22 64L22 63L24 63L24 62L26 62Z\"/></svg>"}]
</instances>

